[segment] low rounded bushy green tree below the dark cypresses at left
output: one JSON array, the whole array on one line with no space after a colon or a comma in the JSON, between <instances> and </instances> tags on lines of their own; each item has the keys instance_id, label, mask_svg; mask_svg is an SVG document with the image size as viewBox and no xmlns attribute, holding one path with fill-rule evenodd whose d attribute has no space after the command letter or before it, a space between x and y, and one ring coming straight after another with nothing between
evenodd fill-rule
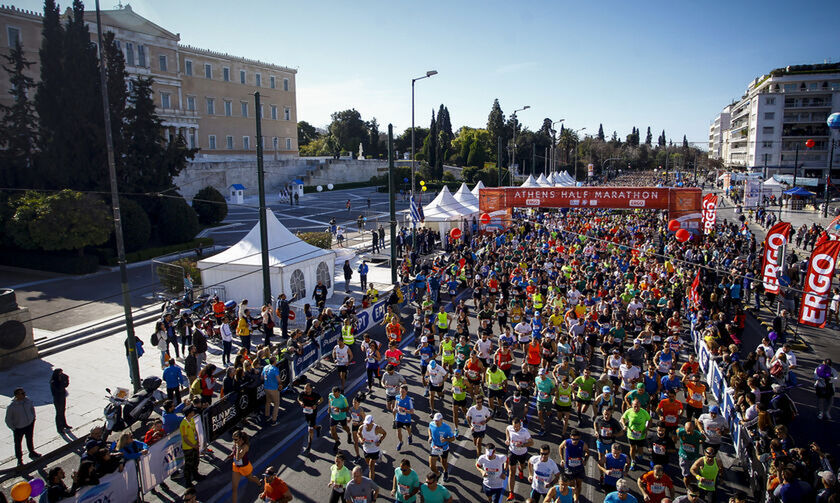
<instances>
[{"instance_id":1,"label":"low rounded bushy green tree below the dark cypresses at left","mask_svg":"<svg viewBox=\"0 0 840 503\"><path fill-rule=\"evenodd\" d=\"M101 199L65 189L45 195L28 192L17 202L10 235L21 248L78 250L108 240L113 228Z\"/></svg>"}]
</instances>

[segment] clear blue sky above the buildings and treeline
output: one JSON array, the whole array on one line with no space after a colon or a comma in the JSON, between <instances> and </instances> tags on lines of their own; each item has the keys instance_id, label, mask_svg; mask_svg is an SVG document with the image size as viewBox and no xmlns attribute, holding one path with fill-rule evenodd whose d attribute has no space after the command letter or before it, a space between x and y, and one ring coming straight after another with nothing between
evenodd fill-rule
<instances>
[{"instance_id":1,"label":"clear blue sky above the buildings and treeline","mask_svg":"<svg viewBox=\"0 0 840 503\"><path fill-rule=\"evenodd\" d=\"M356 108L400 132L411 125L411 78L437 70L417 83L418 126L444 103L454 128L484 127L499 98L506 115L530 105L519 118L531 129L565 118L586 133L650 125L654 137L706 142L714 115L753 78L840 61L837 0L130 4L182 43L297 68L298 120L315 126Z\"/></svg>"}]
</instances>

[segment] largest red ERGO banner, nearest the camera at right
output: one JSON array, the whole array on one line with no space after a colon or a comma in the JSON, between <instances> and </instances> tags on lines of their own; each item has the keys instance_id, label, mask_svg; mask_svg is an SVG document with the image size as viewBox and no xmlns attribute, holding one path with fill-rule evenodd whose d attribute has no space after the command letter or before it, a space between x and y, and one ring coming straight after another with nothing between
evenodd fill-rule
<instances>
[{"instance_id":1,"label":"largest red ERGO banner, nearest the camera at right","mask_svg":"<svg viewBox=\"0 0 840 503\"><path fill-rule=\"evenodd\" d=\"M825 327L828 302L831 299L831 277L837 267L840 241L826 241L814 248L805 276L805 294L799 309L799 323Z\"/></svg>"}]
</instances>

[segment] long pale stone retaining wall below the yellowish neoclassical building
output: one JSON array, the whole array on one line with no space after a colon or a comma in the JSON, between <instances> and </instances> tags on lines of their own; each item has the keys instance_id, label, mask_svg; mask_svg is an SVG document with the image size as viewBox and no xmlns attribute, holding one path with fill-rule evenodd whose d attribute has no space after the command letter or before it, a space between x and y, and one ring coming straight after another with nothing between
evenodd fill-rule
<instances>
[{"instance_id":1,"label":"long pale stone retaining wall below the yellowish neoclassical building","mask_svg":"<svg viewBox=\"0 0 840 503\"><path fill-rule=\"evenodd\" d=\"M295 179L304 185L366 182L388 171L388 163L379 160L297 158L264 161L265 188L276 192ZM246 196L257 195L257 160L207 159L191 162L176 178L175 185L188 201L204 187L215 187L222 194L235 183L245 186Z\"/></svg>"}]
</instances>

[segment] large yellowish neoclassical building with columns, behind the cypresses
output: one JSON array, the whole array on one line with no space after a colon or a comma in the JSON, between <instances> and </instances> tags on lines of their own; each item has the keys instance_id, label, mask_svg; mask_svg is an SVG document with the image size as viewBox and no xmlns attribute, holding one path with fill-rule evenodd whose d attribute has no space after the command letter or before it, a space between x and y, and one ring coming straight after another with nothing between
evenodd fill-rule
<instances>
[{"instance_id":1,"label":"large yellowish neoclassical building with columns, behind the cypresses","mask_svg":"<svg viewBox=\"0 0 840 503\"><path fill-rule=\"evenodd\" d=\"M297 70L181 44L181 37L140 16L129 5L101 11L103 31L114 32L130 76L154 80L157 113L167 139L182 135L203 156L252 157L255 118L262 117L266 156L297 157ZM96 42L96 14L85 13ZM42 14L0 6L0 52L23 44L40 76ZM0 70L0 103L9 102L9 79ZM254 92L261 96L255 110Z\"/></svg>"}]
</instances>

